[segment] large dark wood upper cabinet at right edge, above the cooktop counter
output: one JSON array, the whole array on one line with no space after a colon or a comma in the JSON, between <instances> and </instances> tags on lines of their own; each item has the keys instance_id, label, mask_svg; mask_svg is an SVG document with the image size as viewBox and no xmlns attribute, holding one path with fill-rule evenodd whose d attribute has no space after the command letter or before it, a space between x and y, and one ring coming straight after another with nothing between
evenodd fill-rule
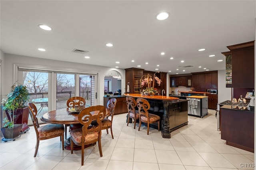
<instances>
[{"instance_id":1,"label":"large dark wood upper cabinet at right edge, above the cooktop counter","mask_svg":"<svg viewBox=\"0 0 256 170\"><path fill-rule=\"evenodd\" d=\"M227 47L232 55L231 87L254 88L254 41Z\"/></svg>"}]
</instances>

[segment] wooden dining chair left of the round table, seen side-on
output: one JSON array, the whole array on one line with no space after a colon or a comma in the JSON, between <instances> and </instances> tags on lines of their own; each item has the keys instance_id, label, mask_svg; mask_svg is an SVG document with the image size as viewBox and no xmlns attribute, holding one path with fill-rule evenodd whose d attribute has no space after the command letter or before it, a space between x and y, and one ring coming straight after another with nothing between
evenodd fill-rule
<instances>
[{"instance_id":1,"label":"wooden dining chair left of the round table, seen side-on","mask_svg":"<svg viewBox=\"0 0 256 170\"><path fill-rule=\"evenodd\" d=\"M27 103L28 110L30 113L31 120L33 122L35 131L36 131L36 147L34 157L36 157L39 141L46 140L50 138L55 138L60 136L60 140L62 142L62 150L64 150L64 125L61 124L47 124L44 126L39 125L37 115L36 105L34 103Z\"/></svg>"}]
</instances>

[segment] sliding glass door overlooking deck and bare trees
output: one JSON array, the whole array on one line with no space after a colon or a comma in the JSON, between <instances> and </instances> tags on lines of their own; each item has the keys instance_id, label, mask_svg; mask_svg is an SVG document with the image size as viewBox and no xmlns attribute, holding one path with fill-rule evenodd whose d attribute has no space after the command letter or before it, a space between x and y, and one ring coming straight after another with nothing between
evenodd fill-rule
<instances>
[{"instance_id":1,"label":"sliding glass door overlooking deck and bare trees","mask_svg":"<svg viewBox=\"0 0 256 170\"><path fill-rule=\"evenodd\" d=\"M27 87L29 102L36 105L39 121L48 111L66 108L70 97L84 97L87 107L96 105L96 74L20 70L21 75L23 82L19 83Z\"/></svg>"}]
</instances>

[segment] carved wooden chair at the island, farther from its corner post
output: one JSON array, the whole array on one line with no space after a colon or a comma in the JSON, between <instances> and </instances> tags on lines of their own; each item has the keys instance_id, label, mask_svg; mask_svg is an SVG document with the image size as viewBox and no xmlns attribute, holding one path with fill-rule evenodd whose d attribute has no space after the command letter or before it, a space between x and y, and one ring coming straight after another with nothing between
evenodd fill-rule
<instances>
[{"instance_id":1,"label":"carved wooden chair at the island, farther from its corner post","mask_svg":"<svg viewBox=\"0 0 256 170\"><path fill-rule=\"evenodd\" d=\"M136 100L133 97L126 97L126 105L127 105L127 111L128 111L128 121L127 126L129 124L129 120L134 119L134 129L136 126L136 121L140 119L139 111L135 110L137 103Z\"/></svg>"}]
</instances>

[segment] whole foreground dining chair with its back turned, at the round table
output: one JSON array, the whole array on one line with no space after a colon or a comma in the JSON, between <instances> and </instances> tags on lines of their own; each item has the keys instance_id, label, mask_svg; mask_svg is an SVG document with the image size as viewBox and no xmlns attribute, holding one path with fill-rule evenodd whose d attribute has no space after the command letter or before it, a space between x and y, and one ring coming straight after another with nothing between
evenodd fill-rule
<instances>
[{"instance_id":1,"label":"whole foreground dining chair with its back turned, at the round table","mask_svg":"<svg viewBox=\"0 0 256 170\"><path fill-rule=\"evenodd\" d=\"M73 154L74 143L82 146L82 165L84 165L84 145L95 144L98 142L100 157L102 157L101 149L101 128L102 120L106 115L106 108L101 105L91 106L83 109L78 115L78 121L83 125L70 131L71 136L71 154ZM94 125L92 125L94 122Z\"/></svg>"}]
</instances>

